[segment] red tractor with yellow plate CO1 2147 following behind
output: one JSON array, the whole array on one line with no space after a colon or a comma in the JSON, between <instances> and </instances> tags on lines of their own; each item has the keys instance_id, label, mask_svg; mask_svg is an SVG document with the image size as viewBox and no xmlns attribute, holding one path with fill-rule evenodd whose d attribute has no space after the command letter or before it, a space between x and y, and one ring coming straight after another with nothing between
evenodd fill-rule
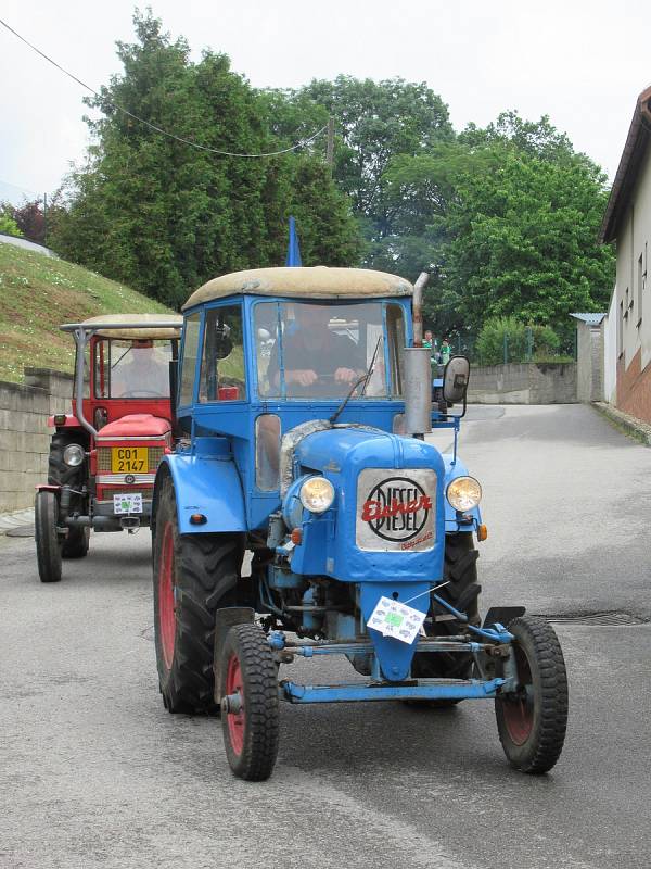
<instances>
[{"instance_id":1,"label":"red tractor with yellow plate CO1 2147 following behind","mask_svg":"<svg viewBox=\"0 0 651 869\"><path fill-rule=\"evenodd\" d=\"M65 324L77 347L69 414L55 414L48 484L39 486L35 537L41 582L62 558L88 553L90 529L149 526L161 458L173 446L170 371L182 318L120 314Z\"/></svg>"}]
</instances>

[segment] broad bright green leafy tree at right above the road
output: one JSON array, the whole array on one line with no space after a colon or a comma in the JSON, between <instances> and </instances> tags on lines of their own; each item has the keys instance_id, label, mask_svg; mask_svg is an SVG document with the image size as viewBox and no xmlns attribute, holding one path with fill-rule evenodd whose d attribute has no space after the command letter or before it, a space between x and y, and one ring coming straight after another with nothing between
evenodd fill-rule
<instances>
[{"instance_id":1,"label":"broad bright green leafy tree at right above the road","mask_svg":"<svg viewBox=\"0 0 651 869\"><path fill-rule=\"evenodd\" d=\"M613 254L597 243L605 177L547 118L500 115L394 161L384 177L403 231L429 244L425 312L439 328L478 331L486 317L513 315L562 335L571 311L608 304Z\"/></svg>"}]
</instances>

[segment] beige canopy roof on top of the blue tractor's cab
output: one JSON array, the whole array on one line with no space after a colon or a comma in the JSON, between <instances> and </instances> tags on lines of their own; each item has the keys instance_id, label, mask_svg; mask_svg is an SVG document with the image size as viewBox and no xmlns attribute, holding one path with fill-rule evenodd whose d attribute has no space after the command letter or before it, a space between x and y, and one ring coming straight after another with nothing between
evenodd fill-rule
<instances>
[{"instance_id":1,"label":"beige canopy roof on top of the blue tractor's cab","mask_svg":"<svg viewBox=\"0 0 651 869\"><path fill-rule=\"evenodd\" d=\"M411 295L405 278L370 268L251 268L214 278L195 290L183 305L193 307L225 295L286 295L302 299L360 299L380 295Z\"/></svg>"}]
</instances>

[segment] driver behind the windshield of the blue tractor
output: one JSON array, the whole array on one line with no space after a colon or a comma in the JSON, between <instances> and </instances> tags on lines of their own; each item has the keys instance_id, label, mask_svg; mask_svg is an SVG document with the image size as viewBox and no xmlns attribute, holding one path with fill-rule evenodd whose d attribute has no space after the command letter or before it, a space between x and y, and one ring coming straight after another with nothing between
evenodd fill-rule
<instances>
[{"instance_id":1,"label":"driver behind the windshield of the blue tractor","mask_svg":"<svg viewBox=\"0 0 651 869\"><path fill-rule=\"evenodd\" d=\"M359 348L344 335L336 335L328 328L331 310L324 305L297 304L296 327L285 328L282 335L284 361L284 379L288 390L293 394L314 395L321 385L330 393L339 393L341 388L352 385L363 373ZM277 341L269 360L268 377L272 388L280 386L280 366L278 362L279 342ZM339 390L332 388L332 380L340 385Z\"/></svg>"}]
</instances>

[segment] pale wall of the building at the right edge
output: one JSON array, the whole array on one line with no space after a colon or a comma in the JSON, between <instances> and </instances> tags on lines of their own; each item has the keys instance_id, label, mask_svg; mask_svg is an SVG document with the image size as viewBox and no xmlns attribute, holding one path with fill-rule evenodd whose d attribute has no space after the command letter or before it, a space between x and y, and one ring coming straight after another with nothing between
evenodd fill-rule
<instances>
[{"instance_id":1,"label":"pale wall of the building at the right edge","mask_svg":"<svg viewBox=\"0 0 651 869\"><path fill-rule=\"evenodd\" d=\"M651 365L651 149L617 235L617 407L651 421L643 383ZM633 366L633 368L631 368Z\"/></svg>"}]
</instances>

